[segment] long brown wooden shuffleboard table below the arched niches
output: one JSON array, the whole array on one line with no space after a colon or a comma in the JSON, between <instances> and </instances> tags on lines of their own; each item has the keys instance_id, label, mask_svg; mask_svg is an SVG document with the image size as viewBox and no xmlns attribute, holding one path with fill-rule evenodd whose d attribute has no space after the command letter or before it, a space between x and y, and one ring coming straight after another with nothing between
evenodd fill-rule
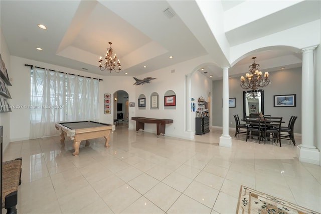
<instances>
[{"instance_id":1,"label":"long brown wooden shuffleboard table below the arched niches","mask_svg":"<svg viewBox=\"0 0 321 214\"><path fill-rule=\"evenodd\" d=\"M172 124L172 119L156 119L156 118L144 118L144 117L132 117L131 120L136 121L136 131L139 129L144 130L145 124L156 124L157 137L163 133L165 135L165 125Z\"/></svg>"}]
</instances>

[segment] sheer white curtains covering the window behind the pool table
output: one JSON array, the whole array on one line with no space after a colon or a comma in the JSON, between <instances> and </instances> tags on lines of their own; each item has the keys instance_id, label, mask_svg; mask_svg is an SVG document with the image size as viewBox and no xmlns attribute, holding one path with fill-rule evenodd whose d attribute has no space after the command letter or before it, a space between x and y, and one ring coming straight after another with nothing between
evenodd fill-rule
<instances>
[{"instance_id":1,"label":"sheer white curtains covering the window behind the pool table","mask_svg":"<svg viewBox=\"0 0 321 214\"><path fill-rule=\"evenodd\" d=\"M30 138L57 134L57 122L97 120L98 87L98 79L34 68Z\"/></svg>"}]
</instances>

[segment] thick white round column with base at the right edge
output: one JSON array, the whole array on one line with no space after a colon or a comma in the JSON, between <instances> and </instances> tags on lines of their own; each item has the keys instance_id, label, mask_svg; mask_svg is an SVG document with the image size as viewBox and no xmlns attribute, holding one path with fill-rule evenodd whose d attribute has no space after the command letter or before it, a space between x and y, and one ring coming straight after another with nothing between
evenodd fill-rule
<instances>
[{"instance_id":1,"label":"thick white round column with base at the right edge","mask_svg":"<svg viewBox=\"0 0 321 214\"><path fill-rule=\"evenodd\" d=\"M314 146L314 62L313 51L317 46L302 49L302 142L296 148L299 160L319 164L320 153Z\"/></svg>"}]
</instances>

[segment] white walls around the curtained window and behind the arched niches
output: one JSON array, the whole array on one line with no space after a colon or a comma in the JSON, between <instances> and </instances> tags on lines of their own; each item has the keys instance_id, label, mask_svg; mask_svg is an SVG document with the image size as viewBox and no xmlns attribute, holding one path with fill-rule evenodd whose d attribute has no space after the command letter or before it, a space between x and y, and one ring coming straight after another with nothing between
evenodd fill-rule
<instances>
[{"instance_id":1,"label":"white walls around the curtained window and behind the arched niches","mask_svg":"<svg viewBox=\"0 0 321 214\"><path fill-rule=\"evenodd\" d=\"M198 65L206 62L206 57L196 58L187 62L176 64L168 68L156 70L148 73L148 76L156 79L151 80L149 84L133 85L132 77L124 76L101 76L88 74L88 72L74 70L66 67L43 63L39 61L29 60L16 56L11 56L11 78L12 84L11 95L13 99L11 104L29 105L30 104L30 67L25 64L30 64L38 67L59 70L66 73L78 75L86 75L95 78L103 79L99 83L99 122L113 124L113 93L117 90L124 90L128 93L128 101L135 102L134 107L129 107L128 128L136 129L135 121L130 120L131 117L141 116L147 118L164 118L173 119L173 124L166 125L166 135L183 139L191 139L189 133L185 130L186 111L191 111L190 106L186 106L186 90L185 90L185 75L191 73ZM175 72L172 72L175 70ZM144 78L137 76L137 78ZM204 75L195 72L192 76L192 85L195 91L193 96L203 96L207 98L207 94L212 90L212 81L209 81ZM176 110L164 109L164 94L168 90L173 90L176 93ZM150 110L150 94L157 92L159 94L159 110ZM111 94L111 114L104 114L104 94ZM146 108L138 110L138 95L145 94ZM28 109L14 110L10 118L10 141L20 141L29 139L30 132L30 111ZM192 121L195 120L195 114L191 114ZM194 122L195 123L195 122ZM195 125L194 125L195 126ZM156 133L155 124L146 124L145 131Z\"/></svg>"}]
</instances>

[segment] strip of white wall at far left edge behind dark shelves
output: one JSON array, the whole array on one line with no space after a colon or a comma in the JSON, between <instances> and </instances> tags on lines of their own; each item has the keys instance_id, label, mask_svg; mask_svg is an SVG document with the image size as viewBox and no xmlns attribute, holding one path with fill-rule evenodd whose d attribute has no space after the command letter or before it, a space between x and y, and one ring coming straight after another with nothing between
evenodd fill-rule
<instances>
[{"instance_id":1,"label":"strip of white wall at far left edge behind dark shelves","mask_svg":"<svg viewBox=\"0 0 321 214\"><path fill-rule=\"evenodd\" d=\"M12 72L11 72L12 69L10 66L10 53L9 53L9 49L8 49L5 37L2 34L1 29L0 29L0 40L1 40L1 44L0 44L1 57L5 62L9 78L11 78L12 77ZM12 88L13 88L12 86L8 86L11 96L13 96L13 94L11 92ZM11 99L7 99L7 100L9 102L9 104L12 104ZM0 125L3 126L3 148L4 149L7 147L7 145L10 142L10 117L11 117L11 115L12 115L12 112L0 114Z\"/></svg>"}]
</instances>

